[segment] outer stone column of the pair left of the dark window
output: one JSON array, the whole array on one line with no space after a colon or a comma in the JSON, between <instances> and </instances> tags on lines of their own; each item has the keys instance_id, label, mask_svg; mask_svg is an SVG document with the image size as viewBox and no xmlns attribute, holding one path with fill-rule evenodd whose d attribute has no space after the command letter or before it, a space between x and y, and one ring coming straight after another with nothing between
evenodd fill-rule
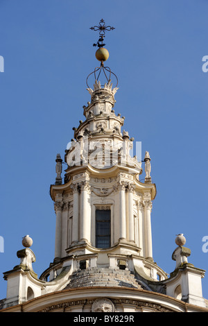
<instances>
[{"instance_id":1,"label":"outer stone column of the pair left of the dark window","mask_svg":"<svg viewBox=\"0 0 208 326\"><path fill-rule=\"evenodd\" d=\"M79 189L78 184L73 185L73 218L72 218L72 243L79 240Z\"/></svg>"}]
</instances>

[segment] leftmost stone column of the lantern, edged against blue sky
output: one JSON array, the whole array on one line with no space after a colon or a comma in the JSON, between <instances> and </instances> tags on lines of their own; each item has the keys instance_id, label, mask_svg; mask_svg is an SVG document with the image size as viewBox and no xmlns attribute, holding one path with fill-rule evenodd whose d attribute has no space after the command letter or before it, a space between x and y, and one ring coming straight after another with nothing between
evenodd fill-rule
<instances>
[{"instance_id":1,"label":"leftmost stone column of the lantern, edged against blue sky","mask_svg":"<svg viewBox=\"0 0 208 326\"><path fill-rule=\"evenodd\" d=\"M62 252L62 201L55 201L55 258L61 257Z\"/></svg>"}]
</instances>

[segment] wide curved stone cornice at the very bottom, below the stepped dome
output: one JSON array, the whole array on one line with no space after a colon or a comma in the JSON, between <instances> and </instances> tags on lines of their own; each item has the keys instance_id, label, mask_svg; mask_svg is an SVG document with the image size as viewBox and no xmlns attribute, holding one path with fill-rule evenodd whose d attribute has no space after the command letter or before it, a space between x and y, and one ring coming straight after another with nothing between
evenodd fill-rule
<instances>
[{"instance_id":1,"label":"wide curved stone cornice at the very bottom, below the stepped dome","mask_svg":"<svg viewBox=\"0 0 208 326\"><path fill-rule=\"evenodd\" d=\"M121 298L121 293L123 298ZM3 309L4 311L21 311L21 312L49 312L59 310L64 312L67 308L84 307L91 309L93 302L98 298L109 298L120 307L127 304L134 307L136 311L160 311L160 312L187 312L198 311L207 312L207 308L197 307L181 300L177 300L162 293L149 292L143 289L121 289L105 286L90 286L86 288L67 289L48 293L40 297L29 300L15 307ZM86 299L87 298L87 299ZM67 310L70 311L70 310ZM72 311L73 312L73 311Z\"/></svg>"}]
</instances>

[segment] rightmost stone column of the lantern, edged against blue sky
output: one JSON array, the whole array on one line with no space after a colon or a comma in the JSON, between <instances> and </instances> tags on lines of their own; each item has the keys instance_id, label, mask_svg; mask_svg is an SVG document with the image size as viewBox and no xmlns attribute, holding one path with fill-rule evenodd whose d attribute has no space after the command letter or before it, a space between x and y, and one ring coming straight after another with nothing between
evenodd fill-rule
<instances>
[{"instance_id":1,"label":"rightmost stone column of the lantern, edged against blue sky","mask_svg":"<svg viewBox=\"0 0 208 326\"><path fill-rule=\"evenodd\" d=\"M151 228L152 207L153 205L151 200L144 200L146 258L153 258L152 228Z\"/></svg>"}]
</instances>

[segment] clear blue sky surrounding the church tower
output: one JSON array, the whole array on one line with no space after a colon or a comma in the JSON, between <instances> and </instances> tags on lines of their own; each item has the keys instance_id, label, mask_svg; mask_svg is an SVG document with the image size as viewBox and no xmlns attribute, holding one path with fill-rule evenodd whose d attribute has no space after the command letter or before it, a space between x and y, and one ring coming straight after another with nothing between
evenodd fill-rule
<instances>
[{"instance_id":1,"label":"clear blue sky surrounding the church tower","mask_svg":"<svg viewBox=\"0 0 208 326\"><path fill-rule=\"evenodd\" d=\"M39 276L53 261L55 156L64 156L90 100L85 80L98 65L98 35L89 27L102 18L116 28L105 38L107 65L119 78L115 112L152 158L153 257L171 273L175 234L184 233L189 262L207 270L208 298L208 2L0 0L0 12L0 298L24 235L33 238Z\"/></svg>"}]
</instances>

